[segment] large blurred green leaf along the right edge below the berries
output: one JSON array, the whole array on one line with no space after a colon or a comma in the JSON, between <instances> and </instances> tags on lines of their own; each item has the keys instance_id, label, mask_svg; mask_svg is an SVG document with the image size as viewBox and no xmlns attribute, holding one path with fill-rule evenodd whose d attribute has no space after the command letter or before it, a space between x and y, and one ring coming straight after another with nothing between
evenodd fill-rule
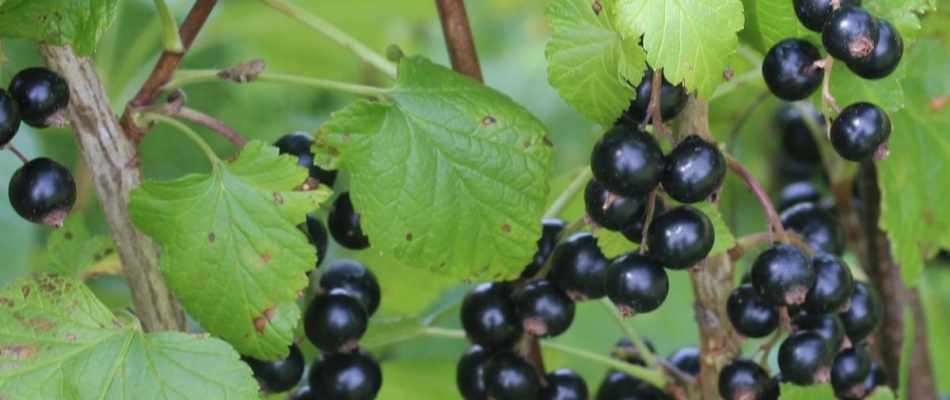
<instances>
[{"instance_id":1,"label":"large blurred green leaf along the right edge below the berries","mask_svg":"<svg viewBox=\"0 0 950 400\"><path fill-rule=\"evenodd\" d=\"M881 229L891 239L904 283L916 286L924 251L950 247L950 186L938 184L950 169L950 49L921 40L904 56L907 107L891 114L890 157L878 163ZM943 97L941 97L943 96Z\"/></svg>"}]
</instances>

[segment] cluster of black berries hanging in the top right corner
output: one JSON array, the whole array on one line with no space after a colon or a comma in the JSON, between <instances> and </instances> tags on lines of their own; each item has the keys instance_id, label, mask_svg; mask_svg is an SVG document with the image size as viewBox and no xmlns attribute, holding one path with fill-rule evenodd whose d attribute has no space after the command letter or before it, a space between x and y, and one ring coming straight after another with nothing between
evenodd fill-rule
<instances>
[{"instance_id":1,"label":"cluster of black berries hanging in the top right corner","mask_svg":"<svg viewBox=\"0 0 950 400\"><path fill-rule=\"evenodd\" d=\"M865 79L880 79L897 69L903 39L887 21L861 8L860 0L793 0L799 21L820 32L824 49ZM822 84L824 65L818 48L802 39L776 43L762 63L769 90L786 101L810 96ZM859 102L845 107L832 122L829 138L849 161L880 159L887 154L891 121L880 107Z\"/></svg>"}]
</instances>

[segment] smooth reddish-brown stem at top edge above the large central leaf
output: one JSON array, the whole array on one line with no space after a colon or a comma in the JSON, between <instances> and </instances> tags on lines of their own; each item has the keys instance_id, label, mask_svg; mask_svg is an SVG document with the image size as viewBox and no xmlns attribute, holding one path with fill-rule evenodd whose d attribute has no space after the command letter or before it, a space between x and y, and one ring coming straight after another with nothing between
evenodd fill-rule
<instances>
[{"instance_id":1,"label":"smooth reddish-brown stem at top edge above the large central leaf","mask_svg":"<svg viewBox=\"0 0 950 400\"><path fill-rule=\"evenodd\" d=\"M445 46L452 60L452 69L482 82L482 70L478 65L475 41L465 14L462 0L435 0L439 9L439 21L442 22L442 34Z\"/></svg>"}]
</instances>

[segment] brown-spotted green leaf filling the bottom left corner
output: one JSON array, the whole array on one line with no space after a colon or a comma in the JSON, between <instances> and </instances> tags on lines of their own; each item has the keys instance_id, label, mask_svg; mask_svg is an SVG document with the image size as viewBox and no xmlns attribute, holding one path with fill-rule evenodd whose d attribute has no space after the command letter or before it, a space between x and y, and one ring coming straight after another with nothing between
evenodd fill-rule
<instances>
[{"instance_id":1,"label":"brown-spotted green leaf filling the bottom left corner","mask_svg":"<svg viewBox=\"0 0 950 400\"><path fill-rule=\"evenodd\" d=\"M76 279L36 274L0 292L0 397L256 399L227 343L123 326Z\"/></svg>"}]
</instances>

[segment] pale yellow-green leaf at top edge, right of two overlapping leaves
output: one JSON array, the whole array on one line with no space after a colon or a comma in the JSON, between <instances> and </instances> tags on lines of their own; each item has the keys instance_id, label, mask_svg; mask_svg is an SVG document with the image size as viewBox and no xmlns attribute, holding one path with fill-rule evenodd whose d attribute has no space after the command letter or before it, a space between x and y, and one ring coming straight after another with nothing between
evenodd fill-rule
<instances>
[{"instance_id":1,"label":"pale yellow-green leaf at top edge, right of two overlapping leaves","mask_svg":"<svg viewBox=\"0 0 950 400\"><path fill-rule=\"evenodd\" d=\"M616 23L625 39L643 36L647 62L668 81L707 98L724 81L744 17L741 0L617 0Z\"/></svg>"}]
</instances>

